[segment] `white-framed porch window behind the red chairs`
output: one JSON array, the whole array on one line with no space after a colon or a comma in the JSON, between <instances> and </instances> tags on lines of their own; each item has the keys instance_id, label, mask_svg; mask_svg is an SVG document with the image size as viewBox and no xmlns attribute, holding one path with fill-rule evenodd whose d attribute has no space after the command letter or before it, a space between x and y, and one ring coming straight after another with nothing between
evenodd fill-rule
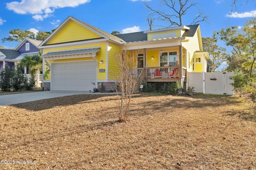
<instances>
[{"instance_id":1,"label":"white-framed porch window behind the red chairs","mask_svg":"<svg viewBox=\"0 0 256 170\"><path fill-rule=\"evenodd\" d=\"M169 66L177 65L177 51L164 52L160 56L160 66L168 64Z\"/></svg>"}]
</instances>

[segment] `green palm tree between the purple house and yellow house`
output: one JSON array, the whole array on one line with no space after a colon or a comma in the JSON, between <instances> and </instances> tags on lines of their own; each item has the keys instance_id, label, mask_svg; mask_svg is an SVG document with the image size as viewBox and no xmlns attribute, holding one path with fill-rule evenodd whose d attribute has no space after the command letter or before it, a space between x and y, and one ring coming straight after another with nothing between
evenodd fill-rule
<instances>
[{"instance_id":1,"label":"green palm tree between the purple house and yellow house","mask_svg":"<svg viewBox=\"0 0 256 170\"><path fill-rule=\"evenodd\" d=\"M21 59L20 64L29 68L29 74L35 80L36 72L43 66L42 58L39 55L28 55Z\"/></svg>"}]
</instances>

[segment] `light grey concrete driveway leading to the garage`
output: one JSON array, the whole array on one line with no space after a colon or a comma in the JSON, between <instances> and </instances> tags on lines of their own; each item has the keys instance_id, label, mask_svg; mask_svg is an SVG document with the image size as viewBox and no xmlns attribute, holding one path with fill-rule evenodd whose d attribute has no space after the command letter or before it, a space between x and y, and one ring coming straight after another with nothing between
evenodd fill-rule
<instances>
[{"instance_id":1,"label":"light grey concrete driveway leading to the garage","mask_svg":"<svg viewBox=\"0 0 256 170\"><path fill-rule=\"evenodd\" d=\"M108 93L90 93L90 92L68 92L68 91L42 91L20 94L8 94L0 96L0 106L32 102L36 100L57 98L62 96L71 96L76 94L108 94Z\"/></svg>"}]
</instances>

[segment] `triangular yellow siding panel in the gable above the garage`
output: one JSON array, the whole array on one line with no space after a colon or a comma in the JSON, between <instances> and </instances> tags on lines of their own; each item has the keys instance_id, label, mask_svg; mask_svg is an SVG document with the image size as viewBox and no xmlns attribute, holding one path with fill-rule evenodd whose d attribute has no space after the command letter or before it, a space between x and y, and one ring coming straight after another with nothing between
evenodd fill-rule
<instances>
[{"instance_id":1,"label":"triangular yellow siding panel in the gable above the garage","mask_svg":"<svg viewBox=\"0 0 256 170\"><path fill-rule=\"evenodd\" d=\"M48 44L64 43L94 38L100 38L100 35L90 31L89 29L74 21L71 21Z\"/></svg>"}]
</instances>

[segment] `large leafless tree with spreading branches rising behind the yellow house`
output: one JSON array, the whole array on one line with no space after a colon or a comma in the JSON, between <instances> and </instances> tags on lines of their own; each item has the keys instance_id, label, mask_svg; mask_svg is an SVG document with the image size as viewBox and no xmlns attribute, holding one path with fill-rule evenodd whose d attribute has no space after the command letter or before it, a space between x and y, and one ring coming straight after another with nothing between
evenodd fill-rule
<instances>
[{"instance_id":1,"label":"large leafless tree with spreading branches rising behind the yellow house","mask_svg":"<svg viewBox=\"0 0 256 170\"><path fill-rule=\"evenodd\" d=\"M162 0L161 6L168 8L168 13L166 13L164 9L154 9L149 4L147 4L145 0L144 4L152 12L150 17L157 20L166 21L170 24L168 27L172 25L182 26L182 19L186 13L193 7L197 8L199 5L198 3L193 3L191 0ZM208 23L208 16L204 16L204 14L198 8L197 10L199 13L195 16L193 22L190 23L190 25L194 25L202 21Z\"/></svg>"}]
</instances>

